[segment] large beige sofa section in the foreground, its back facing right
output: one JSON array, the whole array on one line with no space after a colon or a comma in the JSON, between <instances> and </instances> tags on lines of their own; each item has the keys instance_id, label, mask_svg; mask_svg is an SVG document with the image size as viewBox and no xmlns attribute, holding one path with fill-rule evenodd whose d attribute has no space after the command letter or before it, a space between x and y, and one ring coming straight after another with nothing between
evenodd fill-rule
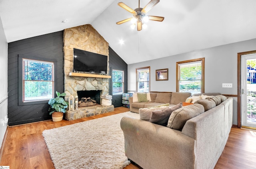
<instances>
[{"instance_id":1,"label":"large beige sofa section in the foreground, its back facing right","mask_svg":"<svg viewBox=\"0 0 256 169\"><path fill-rule=\"evenodd\" d=\"M174 110L168 120L170 128L122 118L126 156L143 169L213 169L232 127L233 99L221 99L220 104L219 100L214 100L215 106L206 98ZM191 114L194 117L183 119L184 126L176 130L178 121ZM170 119L176 119L176 124Z\"/></svg>"}]
</instances>

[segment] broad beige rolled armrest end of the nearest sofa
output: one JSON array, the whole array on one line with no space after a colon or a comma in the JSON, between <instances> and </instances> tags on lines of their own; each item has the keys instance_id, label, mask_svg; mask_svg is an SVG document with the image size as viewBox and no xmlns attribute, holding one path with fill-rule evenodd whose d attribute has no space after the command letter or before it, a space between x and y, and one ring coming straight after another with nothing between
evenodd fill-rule
<instances>
[{"instance_id":1,"label":"broad beige rolled armrest end of the nearest sofa","mask_svg":"<svg viewBox=\"0 0 256 169\"><path fill-rule=\"evenodd\" d=\"M195 140L178 130L123 117L125 155L145 169L195 168Z\"/></svg>"}]
</instances>

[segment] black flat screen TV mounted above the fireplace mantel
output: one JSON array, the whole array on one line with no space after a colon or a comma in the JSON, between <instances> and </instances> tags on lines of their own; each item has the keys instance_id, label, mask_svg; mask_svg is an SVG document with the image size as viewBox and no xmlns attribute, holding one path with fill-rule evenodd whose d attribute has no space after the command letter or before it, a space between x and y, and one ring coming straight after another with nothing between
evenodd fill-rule
<instances>
[{"instance_id":1,"label":"black flat screen TV mounted above the fireplace mantel","mask_svg":"<svg viewBox=\"0 0 256 169\"><path fill-rule=\"evenodd\" d=\"M74 48L73 72L106 74L108 56Z\"/></svg>"}]
</instances>

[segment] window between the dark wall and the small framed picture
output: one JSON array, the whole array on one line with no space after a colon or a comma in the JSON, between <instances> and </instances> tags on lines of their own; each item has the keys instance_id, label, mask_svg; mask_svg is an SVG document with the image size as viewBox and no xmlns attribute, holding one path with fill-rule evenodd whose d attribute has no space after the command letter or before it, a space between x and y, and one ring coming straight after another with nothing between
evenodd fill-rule
<instances>
[{"instance_id":1,"label":"window between the dark wall and the small framed picture","mask_svg":"<svg viewBox=\"0 0 256 169\"><path fill-rule=\"evenodd\" d=\"M136 69L136 91L150 91L150 67L142 67Z\"/></svg>"}]
</instances>

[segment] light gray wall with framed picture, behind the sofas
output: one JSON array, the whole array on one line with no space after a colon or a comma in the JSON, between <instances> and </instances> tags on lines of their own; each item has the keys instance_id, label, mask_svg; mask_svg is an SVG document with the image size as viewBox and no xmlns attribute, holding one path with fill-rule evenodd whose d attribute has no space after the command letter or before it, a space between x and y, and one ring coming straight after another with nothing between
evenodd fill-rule
<instances>
[{"instance_id":1,"label":"light gray wall with framed picture, behind the sofas","mask_svg":"<svg viewBox=\"0 0 256 169\"><path fill-rule=\"evenodd\" d=\"M256 39L230 43L128 65L128 92L136 90L136 68L150 66L150 91L176 91L176 62L205 58L205 92L237 94L237 53L256 50ZM156 69L169 69L168 81L156 81ZM222 88L232 83L233 88ZM237 125L237 98L233 102L233 124Z\"/></svg>"}]
</instances>

